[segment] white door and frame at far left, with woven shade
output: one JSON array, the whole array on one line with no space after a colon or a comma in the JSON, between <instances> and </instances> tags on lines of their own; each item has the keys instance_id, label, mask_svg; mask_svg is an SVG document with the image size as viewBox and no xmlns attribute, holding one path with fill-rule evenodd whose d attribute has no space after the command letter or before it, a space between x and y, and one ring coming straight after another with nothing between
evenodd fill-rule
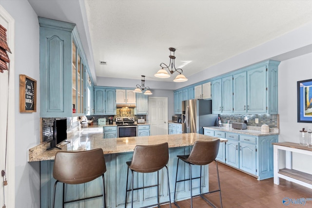
<instances>
[{"instance_id":1,"label":"white door and frame at far left, with woven shade","mask_svg":"<svg viewBox=\"0 0 312 208\"><path fill-rule=\"evenodd\" d=\"M7 208L15 207L15 55L14 55L14 19L0 5L0 24L7 29L7 43L12 54L8 53L10 58L10 71L4 70L0 73L0 170L4 170L4 178L8 185L1 185L0 203L2 207L3 200ZM9 86L10 85L10 86ZM17 86L18 87L18 86ZM17 101L19 102L19 101ZM7 132L8 131L8 132ZM7 132L7 134L6 134ZM7 139L6 139L7 136ZM6 144L7 142L7 144ZM7 147L7 150L5 150ZM6 162L5 162L5 153ZM6 166L5 166L6 164ZM1 177L1 181L3 178ZM4 190L4 193L3 193Z\"/></svg>"}]
</instances>

